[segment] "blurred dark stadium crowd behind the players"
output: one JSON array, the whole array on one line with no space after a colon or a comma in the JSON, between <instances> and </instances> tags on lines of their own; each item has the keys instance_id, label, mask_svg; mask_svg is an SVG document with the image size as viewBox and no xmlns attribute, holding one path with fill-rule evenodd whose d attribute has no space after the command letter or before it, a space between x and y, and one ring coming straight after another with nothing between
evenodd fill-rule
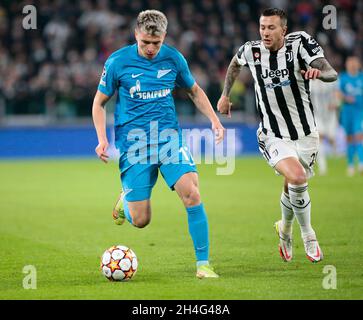
<instances>
[{"instance_id":1,"label":"blurred dark stadium crowd behind the players","mask_svg":"<svg viewBox=\"0 0 363 320\"><path fill-rule=\"evenodd\" d=\"M216 107L231 57L247 40L259 39L259 13L279 7L289 32L314 35L336 70L345 57L363 58L363 2L355 0L38 0L37 29L25 30L28 1L0 4L0 109L4 114L45 114L53 119L90 116L103 63L134 42L134 23L144 9L163 11L166 43L187 58L192 73ZM324 5L337 9L337 29L326 30ZM247 81L245 81L247 80ZM246 84L244 84L246 83ZM252 80L242 72L232 101L246 122L256 121ZM194 115L189 99L176 90L180 114ZM1 116L1 114L0 114Z\"/></svg>"}]
</instances>

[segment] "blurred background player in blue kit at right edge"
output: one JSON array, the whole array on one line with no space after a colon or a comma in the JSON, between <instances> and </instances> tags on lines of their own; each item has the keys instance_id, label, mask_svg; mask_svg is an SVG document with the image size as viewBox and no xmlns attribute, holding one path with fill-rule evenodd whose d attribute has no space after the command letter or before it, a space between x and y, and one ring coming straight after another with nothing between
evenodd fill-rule
<instances>
[{"instance_id":1,"label":"blurred background player in blue kit at right edge","mask_svg":"<svg viewBox=\"0 0 363 320\"><path fill-rule=\"evenodd\" d=\"M354 175L354 158L363 174L363 72L358 57L348 57L346 72L339 76L339 98L342 101L340 122L347 135L348 176Z\"/></svg>"}]
</instances>

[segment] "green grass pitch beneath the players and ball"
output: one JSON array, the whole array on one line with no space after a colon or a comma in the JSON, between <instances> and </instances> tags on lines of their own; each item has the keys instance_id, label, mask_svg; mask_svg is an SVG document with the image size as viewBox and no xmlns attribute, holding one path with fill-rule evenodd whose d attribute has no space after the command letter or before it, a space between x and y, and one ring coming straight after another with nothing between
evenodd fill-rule
<instances>
[{"instance_id":1,"label":"green grass pitch beneath the players and ball","mask_svg":"<svg viewBox=\"0 0 363 320\"><path fill-rule=\"evenodd\" d=\"M273 223L280 217L282 178L260 157L242 158L230 176L200 165L210 226L210 256L219 279L198 280L186 212L159 176L145 229L117 226L111 210L120 189L116 163L97 160L0 162L0 299L362 299L363 176L345 176L344 159L310 181L312 222L324 251L304 254L297 222L294 259L282 262ZM131 247L139 269L129 282L109 282L103 251ZM23 288L23 267L37 289ZM336 289L324 289L336 268Z\"/></svg>"}]
</instances>

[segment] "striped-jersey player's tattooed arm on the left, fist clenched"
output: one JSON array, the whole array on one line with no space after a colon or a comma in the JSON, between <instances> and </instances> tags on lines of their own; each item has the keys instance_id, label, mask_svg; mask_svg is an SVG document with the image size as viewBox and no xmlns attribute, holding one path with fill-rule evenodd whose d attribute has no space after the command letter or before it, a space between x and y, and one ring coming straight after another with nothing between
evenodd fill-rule
<instances>
[{"instance_id":1,"label":"striped-jersey player's tattooed arm on the left, fist clenched","mask_svg":"<svg viewBox=\"0 0 363 320\"><path fill-rule=\"evenodd\" d=\"M241 65L237 61L237 56L234 56L231 63L228 66L226 78L224 80L224 87L222 95L219 98L217 104L217 110L222 114L227 114L228 118L231 117L231 107L232 103L229 100L229 94L231 93L234 81L238 77L241 71Z\"/></svg>"}]
</instances>

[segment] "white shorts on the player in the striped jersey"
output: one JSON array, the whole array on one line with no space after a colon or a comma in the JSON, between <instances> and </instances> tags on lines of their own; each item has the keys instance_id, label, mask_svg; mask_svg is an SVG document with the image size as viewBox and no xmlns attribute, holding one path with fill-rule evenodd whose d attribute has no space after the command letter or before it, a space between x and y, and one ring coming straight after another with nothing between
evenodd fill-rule
<instances>
[{"instance_id":1,"label":"white shorts on the player in the striped jersey","mask_svg":"<svg viewBox=\"0 0 363 320\"><path fill-rule=\"evenodd\" d=\"M259 128L257 140L260 152L271 167L275 168L282 159L294 157L304 167L307 178L314 176L313 167L319 150L319 134L317 132L298 140L290 140L266 135ZM276 173L279 174L277 171Z\"/></svg>"}]
</instances>

